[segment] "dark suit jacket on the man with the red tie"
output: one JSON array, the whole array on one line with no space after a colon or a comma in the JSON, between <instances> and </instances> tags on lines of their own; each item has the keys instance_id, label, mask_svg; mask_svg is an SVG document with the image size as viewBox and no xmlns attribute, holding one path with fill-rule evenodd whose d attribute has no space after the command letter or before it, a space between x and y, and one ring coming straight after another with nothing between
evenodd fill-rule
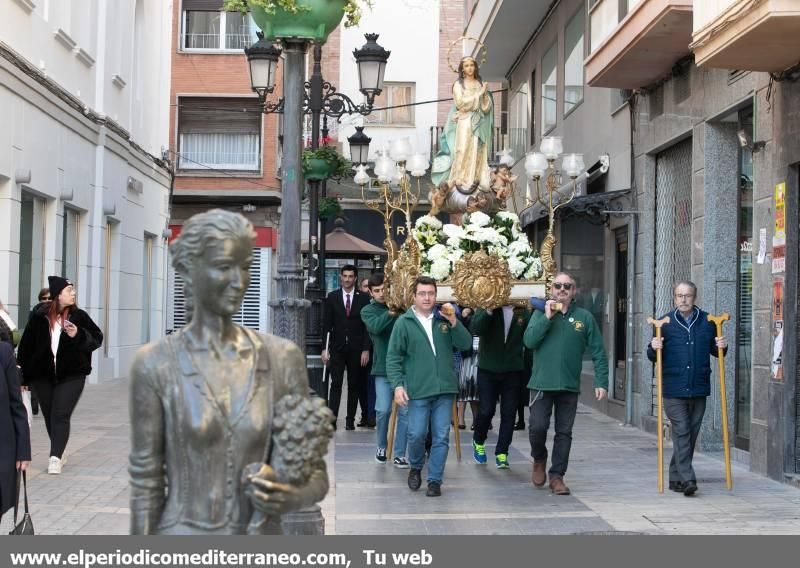
<instances>
[{"instance_id":1,"label":"dark suit jacket on the man with the red tie","mask_svg":"<svg viewBox=\"0 0 800 568\"><path fill-rule=\"evenodd\" d=\"M331 334L331 351L369 351L372 345L367 328L361 320L361 309L369 304L369 294L353 289L350 302L350 317L344 309L342 289L337 288L325 298L322 317L322 345L325 337Z\"/></svg>"}]
</instances>

